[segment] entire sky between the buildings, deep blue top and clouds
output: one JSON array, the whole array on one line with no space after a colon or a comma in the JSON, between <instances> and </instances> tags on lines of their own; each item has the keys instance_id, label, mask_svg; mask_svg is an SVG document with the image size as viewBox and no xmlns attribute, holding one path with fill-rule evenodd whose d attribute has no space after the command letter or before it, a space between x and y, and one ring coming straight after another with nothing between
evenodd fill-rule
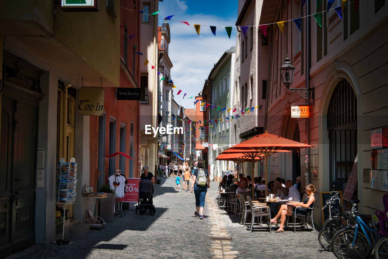
<instances>
[{"instance_id":1,"label":"entire sky between the buildings, deep blue top and clouds","mask_svg":"<svg viewBox=\"0 0 388 259\"><path fill-rule=\"evenodd\" d=\"M194 108L192 99L203 88L204 80L208 77L214 64L222 54L236 45L236 28L233 28L230 39L225 28L217 27L216 36L211 33L209 26L235 26L237 20L237 0L163 0L159 2L159 17L175 14L171 19L200 24L199 36L194 26L185 25L177 21L170 24L170 46L168 56L173 63L171 79L174 85L182 90L176 95L175 101L185 108ZM159 19L159 26L163 19ZM185 99L183 94L187 93Z\"/></svg>"}]
</instances>

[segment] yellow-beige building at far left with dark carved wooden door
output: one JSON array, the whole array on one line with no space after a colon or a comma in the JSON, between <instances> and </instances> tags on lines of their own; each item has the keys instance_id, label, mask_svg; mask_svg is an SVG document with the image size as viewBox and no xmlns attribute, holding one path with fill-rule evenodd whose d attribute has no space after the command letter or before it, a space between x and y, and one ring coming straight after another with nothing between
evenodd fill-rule
<instances>
[{"instance_id":1,"label":"yellow-beige building at far left with dark carved wooden door","mask_svg":"<svg viewBox=\"0 0 388 259\"><path fill-rule=\"evenodd\" d=\"M120 1L100 8L104 12L64 12L49 1L0 4L3 256L55 239L60 158L78 163L78 196L67 206L71 217L86 217L82 191L90 185L93 116L77 111L79 91L120 86Z\"/></svg>"}]
</instances>

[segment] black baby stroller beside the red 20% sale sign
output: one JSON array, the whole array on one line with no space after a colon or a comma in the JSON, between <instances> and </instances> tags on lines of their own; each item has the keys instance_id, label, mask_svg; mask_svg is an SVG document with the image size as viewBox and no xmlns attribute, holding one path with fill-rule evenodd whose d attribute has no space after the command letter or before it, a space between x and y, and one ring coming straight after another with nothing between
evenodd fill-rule
<instances>
[{"instance_id":1,"label":"black baby stroller beside the red 20% sale sign","mask_svg":"<svg viewBox=\"0 0 388 259\"><path fill-rule=\"evenodd\" d=\"M143 179L139 182L139 198L135 208L135 213L143 215L148 210L148 214L154 215L156 210L152 203L152 194L154 193L151 180Z\"/></svg>"}]
</instances>

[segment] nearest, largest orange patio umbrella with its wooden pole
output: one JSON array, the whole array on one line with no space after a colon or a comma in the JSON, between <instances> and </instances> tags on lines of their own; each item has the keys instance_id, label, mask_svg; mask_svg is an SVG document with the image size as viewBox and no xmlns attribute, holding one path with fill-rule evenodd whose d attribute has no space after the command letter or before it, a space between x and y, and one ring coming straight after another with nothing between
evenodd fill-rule
<instances>
[{"instance_id":1,"label":"nearest, largest orange patio umbrella with its wooden pole","mask_svg":"<svg viewBox=\"0 0 388 259\"><path fill-rule=\"evenodd\" d=\"M233 147L230 147L228 150L241 152L256 151L260 154L263 154L265 157L265 180L268 181L268 156L274 154L275 152L289 152L292 150L300 150L304 147L312 147L312 145L303 144L288 138L282 138L281 136L273 135L265 131L265 133L256 135L255 137L241 142ZM265 196L267 196L268 190L267 185L265 186Z\"/></svg>"}]
</instances>

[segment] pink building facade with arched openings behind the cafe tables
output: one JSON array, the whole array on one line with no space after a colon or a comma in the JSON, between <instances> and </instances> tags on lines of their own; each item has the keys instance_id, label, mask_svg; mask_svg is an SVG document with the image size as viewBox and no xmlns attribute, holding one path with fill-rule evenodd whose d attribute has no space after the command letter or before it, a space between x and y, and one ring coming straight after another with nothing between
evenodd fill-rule
<instances>
[{"instance_id":1,"label":"pink building facade with arched openings behind the cafe tables","mask_svg":"<svg viewBox=\"0 0 388 259\"><path fill-rule=\"evenodd\" d=\"M250 8L253 8L255 1L251 2ZM257 44L257 62L268 67L268 70L258 68L256 79L258 93L267 92L262 108L264 130L314 146L309 151L302 149L300 154L271 156L267 180L278 176L294 180L300 175L302 186L314 184L317 194L344 191L357 158L355 178L358 184L350 196L361 200L359 209L362 213L374 214L375 210L383 209L385 191L372 183L378 177L380 182L386 169L383 164L371 165L371 161L374 153L384 154L386 150L382 148L384 145L371 147L371 135L388 124L382 100L388 89L381 73L386 65L379 58L388 51L387 39L382 37L388 26L388 6L384 1L360 2L358 7L355 2L349 2L340 17L333 9L341 6L340 1L334 1L328 12L327 1L318 6L314 1L307 1L303 6L300 1L264 0L258 3L258 8L255 7L255 12L261 14L258 24L267 24L265 39L262 30L254 27L254 33L258 35L256 40L260 42ZM299 30L290 21L319 12L322 12L321 24L313 16L302 18ZM248 25L243 21L240 26ZM290 22L284 23L281 30L276 24L279 21ZM311 94L305 96L307 99L302 98L297 91L284 86L279 68L287 55L295 66L290 89L314 87L314 98ZM240 88L243 85L241 82ZM256 98L260 104L261 96ZM311 118L291 116L291 105L306 103L314 104L308 107L312 109ZM322 207L319 202L315 205ZM314 219L316 223L322 223L320 210L314 212Z\"/></svg>"}]
</instances>

